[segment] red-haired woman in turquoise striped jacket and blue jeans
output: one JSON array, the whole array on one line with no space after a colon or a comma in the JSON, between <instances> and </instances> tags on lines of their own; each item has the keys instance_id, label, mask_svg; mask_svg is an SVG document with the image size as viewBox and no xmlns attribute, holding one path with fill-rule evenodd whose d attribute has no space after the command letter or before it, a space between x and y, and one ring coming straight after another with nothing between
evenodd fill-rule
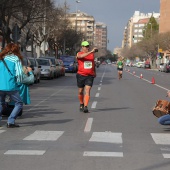
<instances>
[{"instance_id":1,"label":"red-haired woman in turquoise striped jacket and blue jeans","mask_svg":"<svg viewBox=\"0 0 170 170\"><path fill-rule=\"evenodd\" d=\"M19 94L18 83L23 80L22 55L18 44L9 43L0 53L0 121L5 96L8 95L15 103L15 107L7 120L7 128L19 127L15 124L17 115L23 108L23 101Z\"/></svg>"}]
</instances>

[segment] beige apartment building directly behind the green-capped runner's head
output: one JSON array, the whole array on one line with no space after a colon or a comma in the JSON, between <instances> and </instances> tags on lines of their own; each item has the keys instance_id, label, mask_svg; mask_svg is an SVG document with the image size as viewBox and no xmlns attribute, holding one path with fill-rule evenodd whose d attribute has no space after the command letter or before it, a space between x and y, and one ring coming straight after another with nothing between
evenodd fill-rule
<instances>
[{"instance_id":1,"label":"beige apartment building directly behind the green-capped runner's head","mask_svg":"<svg viewBox=\"0 0 170 170\"><path fill-rule=\"evenodd\" d=\"M86 40L93 45L95 27L94 17L79 10L75 13L68 14L67 17L71 21L72 28L75 29L75 31L84 34L83 40Z\"/></svg>"}]
</instances>

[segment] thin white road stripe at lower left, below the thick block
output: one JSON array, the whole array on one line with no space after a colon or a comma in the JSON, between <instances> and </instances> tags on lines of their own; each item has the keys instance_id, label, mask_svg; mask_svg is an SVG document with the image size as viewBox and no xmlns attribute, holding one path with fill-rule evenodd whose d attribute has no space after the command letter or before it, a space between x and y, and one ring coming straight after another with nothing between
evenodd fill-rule
<instances>
[{"instance_id":1,"label":"thin white road stripe at lower left, below the thick block","mask_svg":"<svg viewBox=\"0 0 170 170\"><path fill-rule=\"evenodd\" d=\"M8 150L5 155L43 155L45 150Z\"/></svg>"}]
</instances>

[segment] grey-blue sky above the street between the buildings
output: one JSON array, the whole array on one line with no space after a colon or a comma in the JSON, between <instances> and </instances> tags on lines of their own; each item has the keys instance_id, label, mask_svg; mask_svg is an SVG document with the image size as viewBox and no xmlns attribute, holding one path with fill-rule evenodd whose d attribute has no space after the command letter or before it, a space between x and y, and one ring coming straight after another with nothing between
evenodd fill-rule
<instances>
[{"instance_id":1,"label":"grey-blue sky above the street between the buildings","mask_svg":"<svg viewBox=\"0 0 170 170\"><path fill-rule=\"evenodd\" d=\"M54 0L56 5L66 3L69 5L68 12L80 10L94 17L96 22L107 25L108 50L113 51L121 47L123 32L128 20L135 11L141 13L159 13L160 0Z\"/></svg>"}]
</instances>

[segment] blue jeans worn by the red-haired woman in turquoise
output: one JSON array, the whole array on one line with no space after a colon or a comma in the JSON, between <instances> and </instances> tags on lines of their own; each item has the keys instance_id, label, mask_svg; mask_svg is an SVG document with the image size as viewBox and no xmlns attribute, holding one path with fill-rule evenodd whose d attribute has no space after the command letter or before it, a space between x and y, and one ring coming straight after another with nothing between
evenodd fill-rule
<instances>
[{"instance_id":1,"label":"blue jeans worn by the red-haired woman in turquoise","mask_svg":"<svg viewBox=\"0 0 170 170\"><path fill-rule=\"evenodd\" d=\"M0 91L0 120L2 119L1 113L2 113L2 109L3 109L3 105L5 104L5 96L6 95L9 95L11 101L14 101L14 103L15 103L15 107L12 110L10 116L8 117L8 122L7 122L10 124L14 124L15 119L17 118L19 112L23 108L23 102L19 95L19 91Z\"/></svg>"}]
</instances>

